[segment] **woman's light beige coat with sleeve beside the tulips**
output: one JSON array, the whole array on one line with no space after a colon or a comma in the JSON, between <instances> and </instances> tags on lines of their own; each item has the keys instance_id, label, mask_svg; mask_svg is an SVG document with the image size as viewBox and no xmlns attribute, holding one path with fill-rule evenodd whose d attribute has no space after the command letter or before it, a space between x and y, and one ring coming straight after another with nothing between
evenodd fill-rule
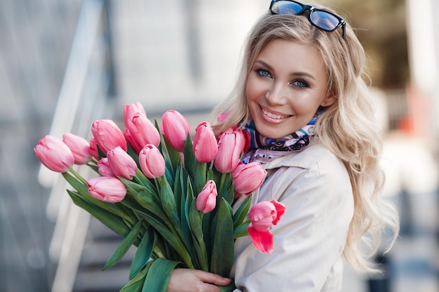
<instances>
[{"instance_id":1,"label":"woman's light beige coat with sleeve beside the tulips","mask_svg":"<svg viewBox=\"0 0 439 292\"><path fill-rule=\"evenodd\" d=\"M234 292L320 292L342 288L342 251L353 216L349 175L318 139L304 151L263 165L268 177L252 204L278 200L287 207L273 226L274 251L260 253L250 237L235 244Z\"/></svg>"}]
</instances>

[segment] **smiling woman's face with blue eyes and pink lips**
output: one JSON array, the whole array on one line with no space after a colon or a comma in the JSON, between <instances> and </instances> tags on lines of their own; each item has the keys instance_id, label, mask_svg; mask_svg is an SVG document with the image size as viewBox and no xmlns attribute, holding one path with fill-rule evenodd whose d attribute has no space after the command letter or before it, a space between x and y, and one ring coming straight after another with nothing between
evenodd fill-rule
<instances>
[{"instance_id":1,"label":"smiling woman's face with blue eyes and pink lips","mask_svg":"<svg viewBox=\"0 0 439 292\"><path fill-rule=\"evenodd\" d=\"M318 106L330 106L327 73L313 46L276 39L259 53L245 86L250 114L260 134L272 139L309 123Z\"/></svg>"}]
</instances>

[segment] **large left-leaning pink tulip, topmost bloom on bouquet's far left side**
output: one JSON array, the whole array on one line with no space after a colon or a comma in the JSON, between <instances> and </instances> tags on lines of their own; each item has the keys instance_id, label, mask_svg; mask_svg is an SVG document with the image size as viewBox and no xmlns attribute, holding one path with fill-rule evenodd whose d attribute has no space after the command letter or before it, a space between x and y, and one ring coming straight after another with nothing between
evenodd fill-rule
<instances>
[{"instance_id":1,"label":"large left-leaning pink tulip, topmost bloom on bouquet's far left side","mask_svg":"<svg viewBox=\"0 0 439 292\"><path fill-rule=\"evenodd\" d=\"M91 126L91 132L104 154L117 146L121 146L123 151L128 149L121 129L112 120L96 120Z\"/></svg>"}]
</instances>

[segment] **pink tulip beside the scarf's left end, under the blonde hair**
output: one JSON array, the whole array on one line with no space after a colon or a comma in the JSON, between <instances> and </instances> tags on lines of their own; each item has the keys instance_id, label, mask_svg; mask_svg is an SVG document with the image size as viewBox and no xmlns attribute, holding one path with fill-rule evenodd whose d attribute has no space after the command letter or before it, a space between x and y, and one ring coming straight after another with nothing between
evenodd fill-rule
<instances>
[{"instance_id":1,"label":"pink tulip beside the scarf's left end, under the blonde hair","mask_svg":"<svg viewBox=\"0 0 439 292\"><path fill-rule=\"evenodd\" d=\"M241 130L224 132L219 136L218 154L215 167L219 172L227 173L235 169L245 148L245 134Z\"/></svg>"}]
</instances>

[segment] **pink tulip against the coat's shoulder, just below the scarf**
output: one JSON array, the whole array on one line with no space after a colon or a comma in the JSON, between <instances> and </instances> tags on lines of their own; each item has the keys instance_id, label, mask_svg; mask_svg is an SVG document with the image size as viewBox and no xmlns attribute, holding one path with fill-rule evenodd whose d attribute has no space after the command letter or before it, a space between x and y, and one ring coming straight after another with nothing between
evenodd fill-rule
<instances>
[{"instance_id":1,"label":"pink tulip against the coat's shoulder, just below the scarf","mask_svg":"<svg viewBox=\"0 0 439 292\"><path fill-rule=\"evenodd\" d=\"M235 190L243 195L250 195L265 181L266 171L259 162L246 165L240 162L231 175L234 177Z\"/></svg>"}]
</instances>

